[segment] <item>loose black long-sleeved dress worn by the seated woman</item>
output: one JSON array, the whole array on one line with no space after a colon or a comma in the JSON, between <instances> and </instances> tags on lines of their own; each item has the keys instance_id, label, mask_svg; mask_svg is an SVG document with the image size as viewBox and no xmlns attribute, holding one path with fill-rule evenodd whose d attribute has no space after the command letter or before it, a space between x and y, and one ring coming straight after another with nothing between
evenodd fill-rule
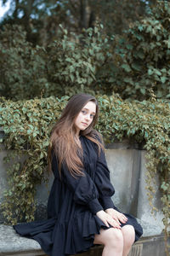
<instances>
[{"instance_id":1,"label":"loose black long-sleeved dress worn by the seated woman","mask_svg":"<svg viewBox=\"0 0 170 256\"><path fill-rule=\"evenodd\" d=\"M94 245L94 234L107 229L96 212L117 208L111 201L115 193L105 153L98 154L96 144L80 137L83 150L84 176L72 177L66 166L59 178L56 157L52 160L54 183L48 197L48 219L14 225L20 236L38 241L50 256L65 256L88 250ZM135 230L135 241L142 235L142 227L129 214L126 224ZM125 224L122 224L122 226ZM111 227L111 226L110 226Z\"/></svg>"}]
</instances>

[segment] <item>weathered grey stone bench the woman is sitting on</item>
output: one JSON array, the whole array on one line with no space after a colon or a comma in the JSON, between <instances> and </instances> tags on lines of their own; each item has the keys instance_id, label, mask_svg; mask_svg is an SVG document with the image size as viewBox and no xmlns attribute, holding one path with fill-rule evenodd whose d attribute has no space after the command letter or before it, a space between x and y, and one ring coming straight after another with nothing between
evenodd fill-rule
<instances>
[{"instance_id":1,"label":"weathered grey stone bench the woman is sitting on","mask_svg":"<svg viewBox=\"0 0 170 256\"><path fill-rule=\"evenodd\" d=\"M160 228L155 225L139 221L143 226L144 234L137 241L129 256L164 256L164 241ZM77 256L100 256L102 246L92 247L85 253L77 254ZM0 224L0 255L2 256L42 256L43 253L37 241L21 237L15 233L12 226ZM56 255L59 256L59 255Z\"/></svg>"}]
</instances>

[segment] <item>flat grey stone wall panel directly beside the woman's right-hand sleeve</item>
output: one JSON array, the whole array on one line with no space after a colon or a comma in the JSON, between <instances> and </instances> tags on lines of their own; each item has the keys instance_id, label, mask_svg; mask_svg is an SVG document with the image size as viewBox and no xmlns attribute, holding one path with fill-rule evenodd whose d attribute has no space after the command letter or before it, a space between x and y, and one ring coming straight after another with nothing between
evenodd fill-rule
<instances>
[{"instance_id":1,"label":"flat grey stone wall panel directly beside the woman's right-hand sleeve","mask_svg":"<svg viewBox=\"0 0 170 256\"><path fill-rule=\"evenodd\" d=\"M137 149L108 148L106 160L111 172L111 183L116 193L112 197L116 207L137 215L140 151Z\"/></svg>"}]
</instances>

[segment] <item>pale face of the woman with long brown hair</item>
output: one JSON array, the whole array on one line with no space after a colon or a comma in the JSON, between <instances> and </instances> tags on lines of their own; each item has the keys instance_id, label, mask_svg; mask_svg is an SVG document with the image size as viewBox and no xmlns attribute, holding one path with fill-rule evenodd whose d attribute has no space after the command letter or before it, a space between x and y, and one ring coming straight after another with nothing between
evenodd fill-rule
<instances>
[{"instance_id":1,"label":"pale face of the woman with long brown hair","mask_svg":"<svg viewBox=\"0 0 170 256\"><path fill-rule=\"evenodd\" d=\"M74 125L77 129L77 134L81 130L85 130L92 123L94 115L96 114L96 104L94 102L88 102L78 113L75 119Z\"/></svg>"}]
</instances>

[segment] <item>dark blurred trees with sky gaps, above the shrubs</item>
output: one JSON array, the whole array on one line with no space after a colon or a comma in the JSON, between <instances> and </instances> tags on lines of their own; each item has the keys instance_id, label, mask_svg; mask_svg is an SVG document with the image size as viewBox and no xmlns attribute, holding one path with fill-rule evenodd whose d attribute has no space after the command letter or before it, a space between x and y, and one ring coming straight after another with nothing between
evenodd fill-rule
<instances>
[{"instance_id":1,"label":"dark blurred trees with sky gaps, above the shrubs","mask_svg":"<svg viewBox=\"0 0 170 256\"><path fill-rule=\"evenodd\" d=\"M121 34L135 20L147 13L146 7L155 0L1 0L10 3L4 24L24 27L27 40L34 45L47 46L59 37L59 24L69 32L80 34L82 29L94 27L97 22L105 26L106 34Z\"/></svg>"}]
</instances>

